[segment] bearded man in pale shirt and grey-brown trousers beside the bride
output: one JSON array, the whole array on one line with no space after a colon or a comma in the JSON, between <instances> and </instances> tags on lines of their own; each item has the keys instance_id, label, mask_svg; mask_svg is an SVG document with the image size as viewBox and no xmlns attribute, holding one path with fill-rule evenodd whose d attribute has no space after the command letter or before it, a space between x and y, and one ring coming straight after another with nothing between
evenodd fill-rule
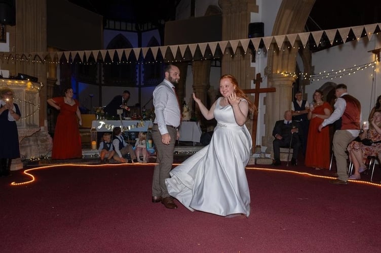
<instances>
[{"instance_id":1,"label":"bearded man in pale shirt and grey-brown trousers beside the bride","mask_svg":"<svg viewBox=\"0 0 381 253\"><path fill-rule=\"evenodd\" d=\"M152 202L162 202L165 207L175 209L177 205L168 193L165 179L170 177L175 142L179 138L177 128L181 121L181 111L174 85L180 79L180 70L169 65L165 68L164 75L164 80L153 94L156 118L152 138L156 146L157 165L152 182Z\"/></svg>"}]
</instances>

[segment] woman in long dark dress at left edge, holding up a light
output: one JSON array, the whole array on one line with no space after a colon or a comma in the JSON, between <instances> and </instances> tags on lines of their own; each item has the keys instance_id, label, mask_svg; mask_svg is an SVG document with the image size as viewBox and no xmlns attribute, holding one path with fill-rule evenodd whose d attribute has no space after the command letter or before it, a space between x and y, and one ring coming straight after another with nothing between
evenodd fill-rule
<instances>
[{"instance_id":1,"label":"woman in long dark dress at left edge, holding up a light","mask_svg":"<svg viewBox=\"0 0 381 253\"><path fill-rule=\"evenodd\" d=\"M20 157L19 136L16 120L21 113L17 104L13 103L13 91L4 88L0 91L0 176L10 176L12 159Z\"/></svg>"}]
</instances>

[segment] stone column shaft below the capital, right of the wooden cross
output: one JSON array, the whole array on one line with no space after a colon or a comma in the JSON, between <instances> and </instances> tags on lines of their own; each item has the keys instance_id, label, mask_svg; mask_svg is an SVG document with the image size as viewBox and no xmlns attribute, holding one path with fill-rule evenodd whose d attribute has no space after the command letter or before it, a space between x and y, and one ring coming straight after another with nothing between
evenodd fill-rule
<instances>
[{"instance_id":1,"label":"stone column shaft below the capital, right of the wooden cross","mask_svg":"<svg viewBox=\"0 0 381 253\"><path fill-rule=\"evenodd\" d=\"M273 129L277 120L283 119L284 112L291 110L292 84L295 78L283 76L282 74L269 74L268 86L274 87L276 92L268 93L265 97L265 136L262 137L262 146L268 147L266 152L273 153Z\"/></svg>"}]
</instances>

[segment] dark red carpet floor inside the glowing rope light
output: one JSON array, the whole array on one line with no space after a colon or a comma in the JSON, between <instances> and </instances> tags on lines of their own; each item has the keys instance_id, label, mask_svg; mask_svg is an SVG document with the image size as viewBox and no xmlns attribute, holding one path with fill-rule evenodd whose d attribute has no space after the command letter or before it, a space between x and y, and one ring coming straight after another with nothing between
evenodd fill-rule
<instances>
[{"instance_id":1,"label":"dark red carpet floor inside the glowing rope light","mask_svg":"<svg viewBox=\"0 0 381 253\"><path fill-rule=\"evenodd\" d=\"M151 203L153 166L59 166L0 178L1 252L376 252L381 187L247 170L249 218ZM176 201L176 200L175 200ZM177 201L176 201L177 202ZM177 202L178 203L178 202Z\"/></svg>"}]
</instances>

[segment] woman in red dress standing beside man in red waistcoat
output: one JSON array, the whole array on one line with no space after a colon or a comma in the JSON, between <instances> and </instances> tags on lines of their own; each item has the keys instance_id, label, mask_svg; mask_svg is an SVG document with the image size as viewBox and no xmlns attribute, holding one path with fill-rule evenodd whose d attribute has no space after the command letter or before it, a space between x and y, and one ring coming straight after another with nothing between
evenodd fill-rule
<instances>
[{"instance_id":1,"label":"woman in red dress standing beside man in red waistcoat","mask_svg":"<svg viewBox=\"0 0 381 253\"><path fill-rule=\"evenodd\" d=\"M329 168L330 147L329 147L329 128L322 129L319 132L319 125L324 119L332 113L332 107L324 102L323 92L316 90L313 96L313 102L310 105L308 119L310 127L308 130L306 159L304 164L309 167L315 167L316 170Z\"/></svg>"}]
</instances>

